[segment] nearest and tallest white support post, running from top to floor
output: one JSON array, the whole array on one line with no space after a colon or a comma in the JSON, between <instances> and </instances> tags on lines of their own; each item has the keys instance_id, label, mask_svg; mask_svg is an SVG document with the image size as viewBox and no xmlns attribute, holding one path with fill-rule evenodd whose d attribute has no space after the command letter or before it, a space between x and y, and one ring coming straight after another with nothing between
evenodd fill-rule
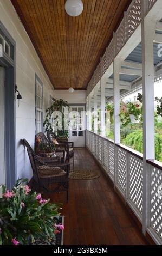
<instances>
[{"instance_id":1,"label":"nearest and tallest white support post, running from top to floor","mask_svg":"<svg viewBox=\"0 0 162 256\"><path fill-rule=\"evenodd\" d=\"M143 141L144 141L144 198L143 198L143 233L149 223L150 205L150 170L147 168L147 159L154 159L154 54L153 40L155 35L155 21L144 17L146 2L142 1L142 87L143 87Z\"/></svg>"}]
</instances>

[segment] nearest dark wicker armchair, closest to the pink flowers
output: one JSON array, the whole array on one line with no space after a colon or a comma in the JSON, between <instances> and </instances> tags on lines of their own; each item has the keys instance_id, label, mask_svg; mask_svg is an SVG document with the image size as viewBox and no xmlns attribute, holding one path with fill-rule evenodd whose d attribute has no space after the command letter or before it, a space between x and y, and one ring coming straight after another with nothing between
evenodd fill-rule
<instances>
[{"instance_id":1,"label":"nearest dark wicker armchair, closest to the pink flowers","mask_svg":"<svg viewBox=\"0 0 162 256\"><path fill-rule=\"evenodd\" d=\"M60 157L55 157L55 164L43 162L25 139L22 139L22 144L27 148L34 180L38 186L45 188L48 192L67 191L68 202L70 164L60 163ZM57 183L58 186L54 190L50 190L49 187L54 183Z\"/></svg>"}]
</instances>

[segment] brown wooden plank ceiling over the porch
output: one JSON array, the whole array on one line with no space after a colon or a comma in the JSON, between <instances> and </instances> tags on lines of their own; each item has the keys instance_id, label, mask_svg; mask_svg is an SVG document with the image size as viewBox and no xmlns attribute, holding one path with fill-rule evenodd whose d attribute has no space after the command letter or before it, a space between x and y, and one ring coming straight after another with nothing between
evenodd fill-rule
<instances>
[{"instance_id":1,"label":"brown wooden plank ceiling over the porch","mask_svg":"<svg viewBox=\"0 0 162 256\"><path fill-rule=\"evenodd\" d=\"M70 17L65 0L11 0L55 89L86 89L131 0L83 0Z\"/></svg>"}]
</instances>

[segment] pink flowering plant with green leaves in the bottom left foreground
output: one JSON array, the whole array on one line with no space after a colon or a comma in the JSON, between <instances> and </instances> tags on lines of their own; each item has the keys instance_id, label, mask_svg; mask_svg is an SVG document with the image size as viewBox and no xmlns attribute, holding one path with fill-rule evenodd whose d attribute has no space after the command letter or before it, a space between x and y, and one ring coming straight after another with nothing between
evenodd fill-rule
<instances>
[{"instance_id":1,"label":"pink flowering plant with green leaves in the bottom left foreground","mask_svg":"<svg viewBox=\"0 0 162 256\"><path fill-rule=\"evenodd\" d=\"M19 179L12 191L3 185L0 199L0 245L28 245L36 239L50 242L63 230L56 225L54 217L59 216L61 204L50 204L41 194L31 193L25 185L27 179Z\"/></svg>"}]
</instances>

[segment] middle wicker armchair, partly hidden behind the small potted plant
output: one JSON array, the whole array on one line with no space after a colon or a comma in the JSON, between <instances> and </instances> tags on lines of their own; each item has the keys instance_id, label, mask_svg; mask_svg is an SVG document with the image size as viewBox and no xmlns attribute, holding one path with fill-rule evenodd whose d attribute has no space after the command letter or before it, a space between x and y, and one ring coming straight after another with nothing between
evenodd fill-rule
<instances>
[{"instance_id":1,"label":"middle wicker armchair, partly hidden behind the small potted plant","mask_svg":"<svg viewBox=\"0 0 162 256\"><path fill-rule=\"evenodd\" d=\"M39 150L39 146L38 146L38 142L44 143L44 144L49 144L50 142L48 141L48 139L46 138L46 135L44 135L43 132L39 132L35 135L35 153L38 154L38 150ZM65 145L63 145L63 147L61 148L56 148L55 150L55 154L56 156L59 156L61 158L61 163L64 163L66 161L66 157L67 157L67 148ZM42 157L42 161L44 162L48 162L48 163L52 163L53 159L55 157Z\"/></svg>"}]
</instances>

